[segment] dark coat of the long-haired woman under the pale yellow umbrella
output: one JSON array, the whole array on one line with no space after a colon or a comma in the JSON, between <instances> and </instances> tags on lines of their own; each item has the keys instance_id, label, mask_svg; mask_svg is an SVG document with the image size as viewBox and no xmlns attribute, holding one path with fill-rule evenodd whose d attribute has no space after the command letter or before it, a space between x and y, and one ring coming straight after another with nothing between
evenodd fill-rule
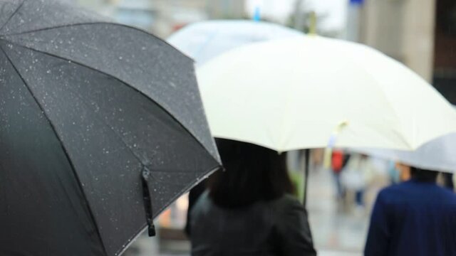
<instances>
[{"instance_id":1,"label":"dark coat of the long-haired woman under the pale yellow umbrella","mask_svg":"<svg viewBox=\"0 0 456 256\"><path fill-rule=\"evenodd\" d=\"M192 256L316 255L306 210L293 196L228 209L205 192L191 217Z\"/></svg>"}]
</instances>

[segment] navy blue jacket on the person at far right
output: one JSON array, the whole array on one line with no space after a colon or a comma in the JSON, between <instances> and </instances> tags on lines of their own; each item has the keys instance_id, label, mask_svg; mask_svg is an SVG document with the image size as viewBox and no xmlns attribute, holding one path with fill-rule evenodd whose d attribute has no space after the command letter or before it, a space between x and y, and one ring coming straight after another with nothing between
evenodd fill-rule
<instances>
[{"instance_id":1,"label":"navy blue jacket on the person at far right","mask_svg":"<svg viewBox=\"0 0 456 256\"><path fill-rule=\"evenodd\" d=\"M415 180L383 189L364 254L456 255L456 194Z\"/></svg>"}]
</instances>

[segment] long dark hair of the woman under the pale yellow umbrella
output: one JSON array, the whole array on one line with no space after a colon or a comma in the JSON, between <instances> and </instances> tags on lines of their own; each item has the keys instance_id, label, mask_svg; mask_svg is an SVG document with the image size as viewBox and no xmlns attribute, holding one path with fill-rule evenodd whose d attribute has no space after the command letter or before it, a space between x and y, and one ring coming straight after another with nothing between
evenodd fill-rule
<instances>
[{"instance_id":1,"label":"long dark hair of the woman under the pale yellow umbrella","mask_svg":"<svg viewBox=\"0 0 456 256\"><path fill-rule=\"evenodd\" d=\"M216 142L225 169L209 178L209 196L217 206L249 206L293 192L285 153L229 139Z\"/></svg>"}]
</instances>

